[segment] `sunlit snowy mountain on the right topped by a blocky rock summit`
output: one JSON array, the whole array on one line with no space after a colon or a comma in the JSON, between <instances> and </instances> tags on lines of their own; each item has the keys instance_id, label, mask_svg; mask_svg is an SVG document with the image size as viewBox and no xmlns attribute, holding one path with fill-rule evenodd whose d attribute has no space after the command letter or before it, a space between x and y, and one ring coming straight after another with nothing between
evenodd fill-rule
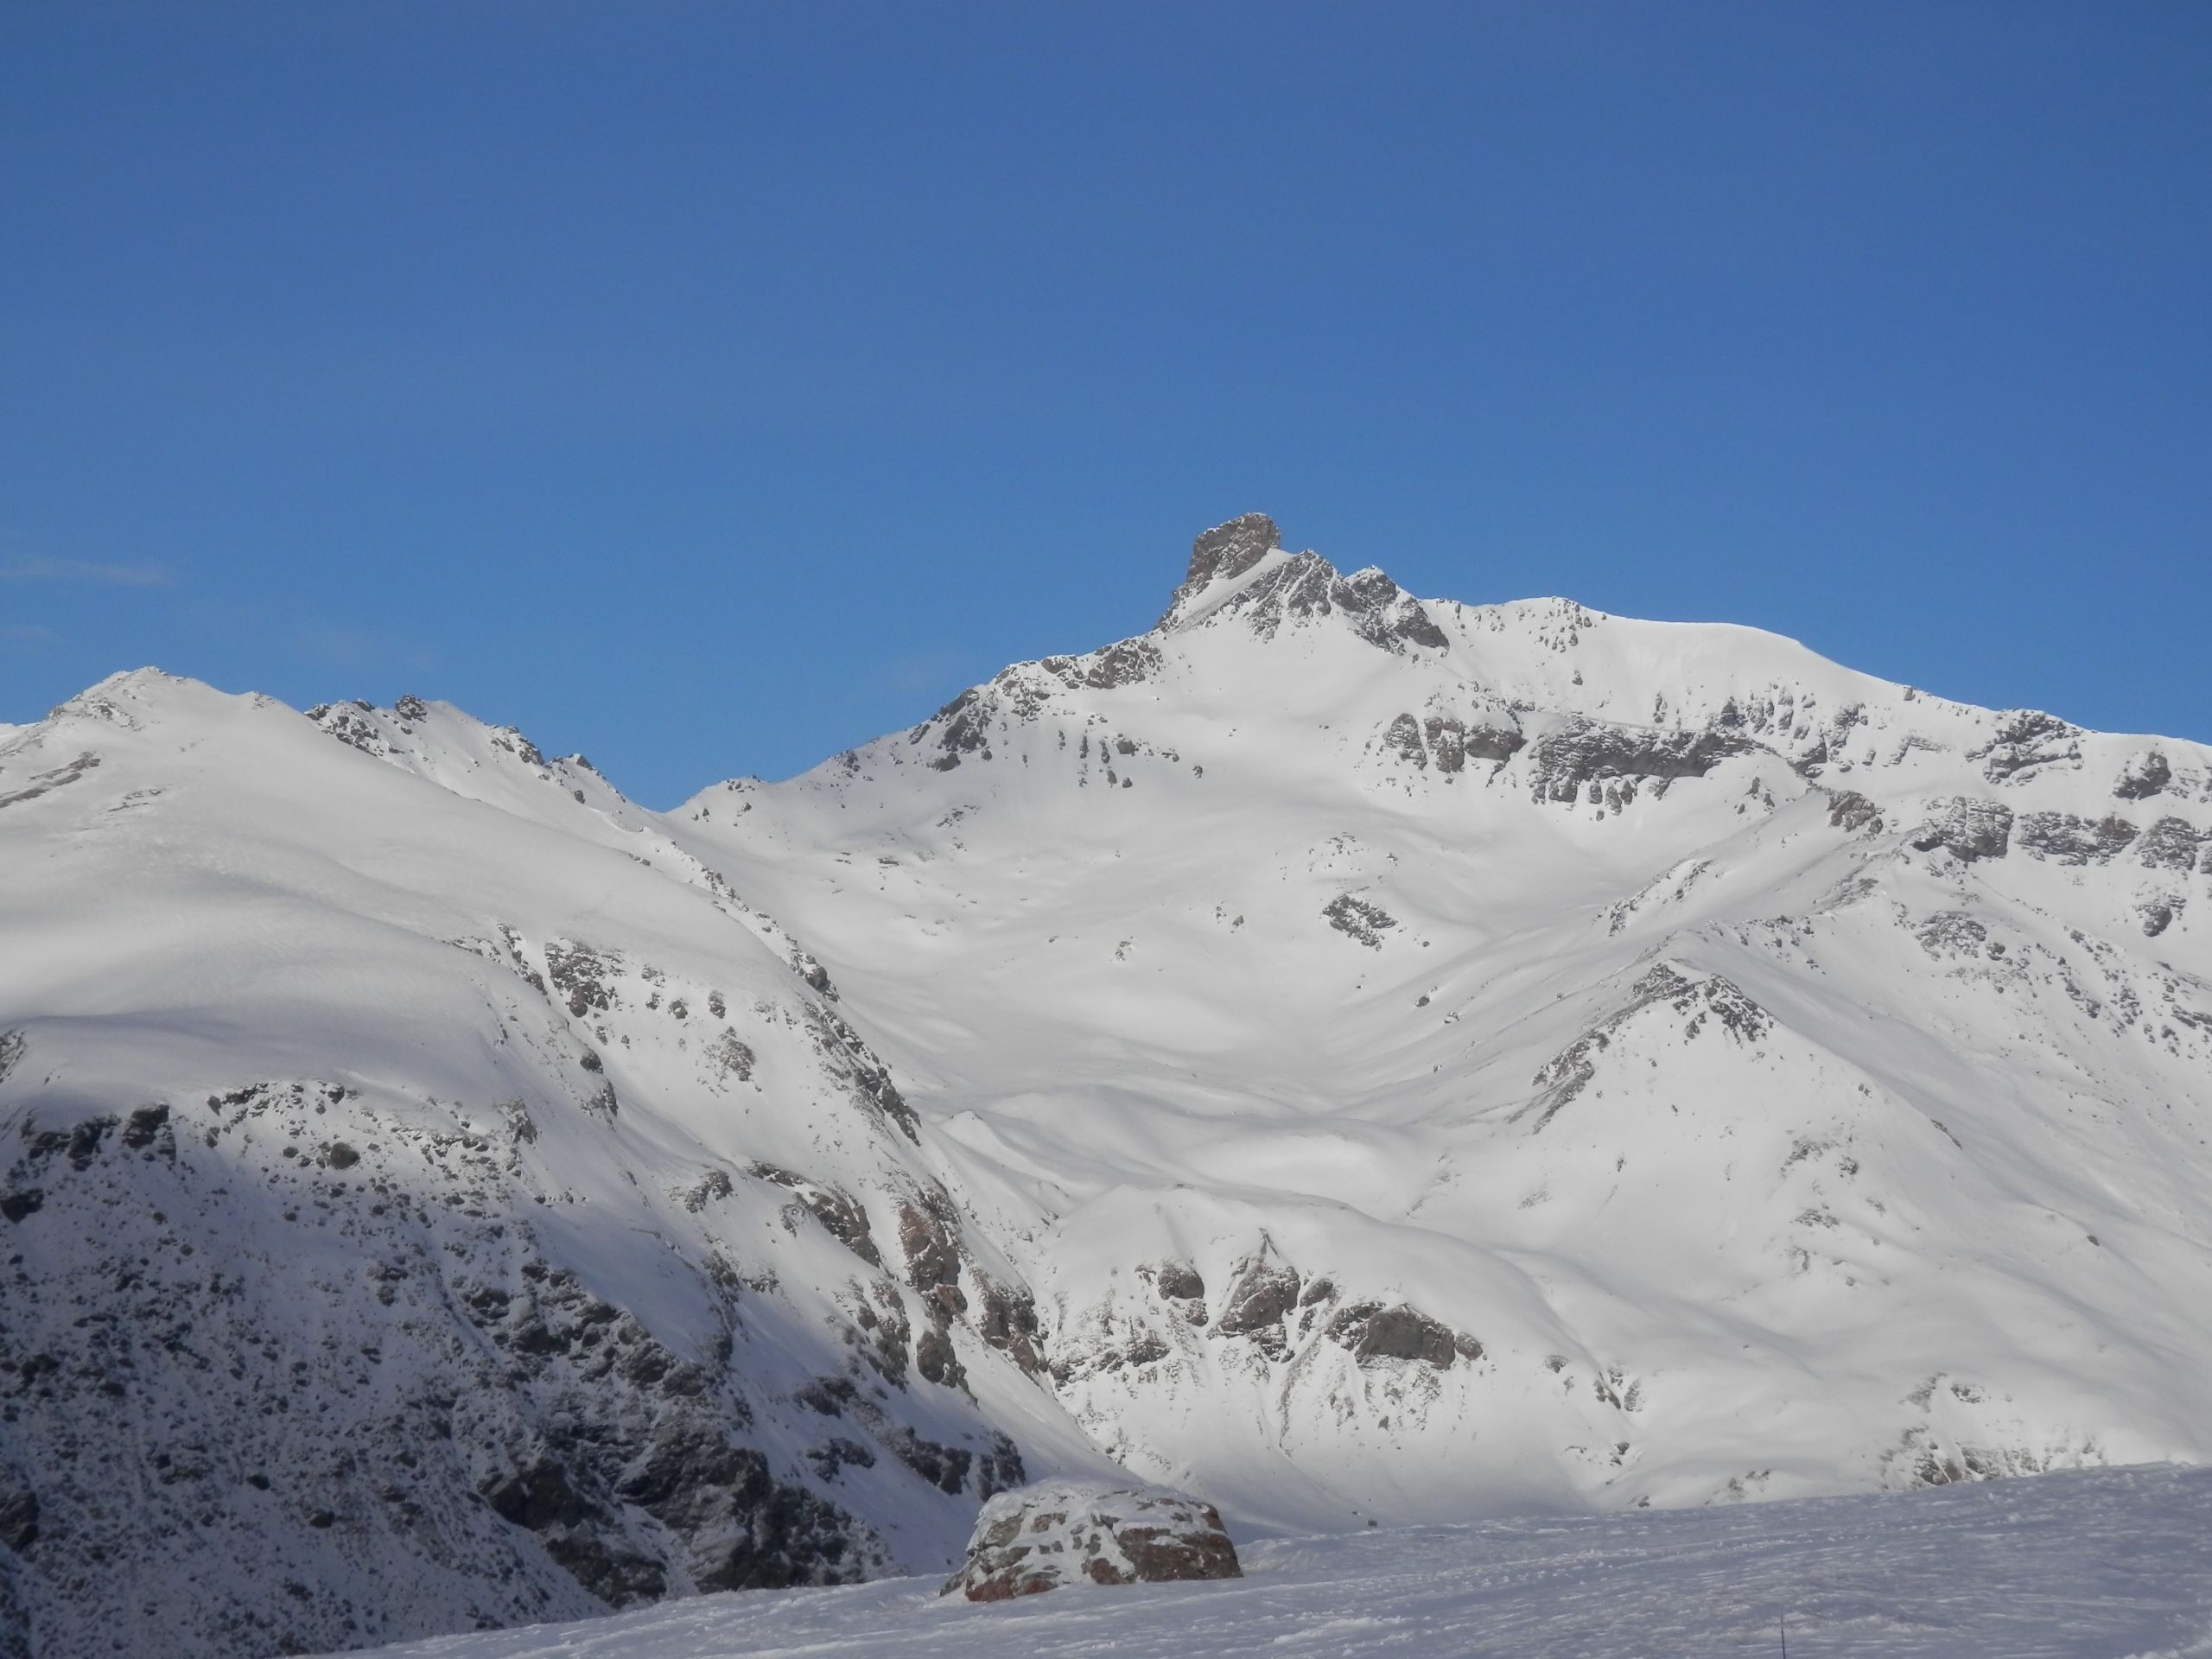
<instances>
[{"instance_id":1,"label":"sunlit snowy mountain on the right topped by a blocky rock summit","mask_svg":"<svg viewBox=\"0 0 2212 1659\"><path fill-rule=\"evenodd\" d=\"M1332 1526L2205 1455L2212 754L1199 538L670 832L1141 1475Z\"/></svg>"}]
</instances>

